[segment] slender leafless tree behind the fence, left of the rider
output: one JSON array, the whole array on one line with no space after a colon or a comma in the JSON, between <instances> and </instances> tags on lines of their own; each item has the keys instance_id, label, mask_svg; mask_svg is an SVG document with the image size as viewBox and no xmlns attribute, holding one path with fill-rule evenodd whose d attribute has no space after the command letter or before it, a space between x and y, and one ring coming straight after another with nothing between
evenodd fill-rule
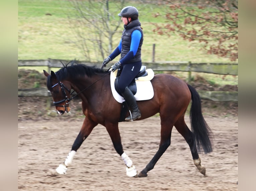
<instances>
[{"instance_id":1,"label":"slender leafless tree behind the fence, left of the rider","mask_svg":"<svg viewBox=\"0 0 256 191\"><path fill-rule=\"evenodd\" d=\"M124 0L112 3L111 7L108 0L71 0L71 6L73 11L67 14L77 34L77 46L82 48L88 61L93 54L97 61L103 60L113 49L113 36L121 25L117 14Z\"/></svg>"}]
</instances>

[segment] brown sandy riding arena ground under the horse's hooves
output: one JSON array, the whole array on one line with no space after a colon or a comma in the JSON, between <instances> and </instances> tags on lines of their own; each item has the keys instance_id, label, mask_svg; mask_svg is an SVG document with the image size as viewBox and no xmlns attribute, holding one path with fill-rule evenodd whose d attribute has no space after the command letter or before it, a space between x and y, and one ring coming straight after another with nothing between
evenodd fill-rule
<instances>
[{"instance_id":1,"label":"brown sandy riding arena ground under the horse's hooves","mask_svg":"<svg viewBox=\"0 0 256 191\"><path fill-rule=\"evenodd\" d=\"M19 121L18 190L238 190L238 117L205 119L214 133L214 151L200 154L206 176L173 128L171 145L145 178L126 176L126 166L101 125L84 141L67 174L58 175L55 169L67 157L83 118ZM186 122L190 126L188 117ZM122 122L119 130L125 152L141 171L158 149L160 118Z\"/></svg>"}]
</instances>

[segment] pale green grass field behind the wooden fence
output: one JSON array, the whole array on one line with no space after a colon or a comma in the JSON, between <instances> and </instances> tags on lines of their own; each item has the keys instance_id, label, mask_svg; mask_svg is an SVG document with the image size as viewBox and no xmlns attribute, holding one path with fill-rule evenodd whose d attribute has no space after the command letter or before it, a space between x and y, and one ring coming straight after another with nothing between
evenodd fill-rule
<instances>
[{"instance_id":1,"label":"pale green grass field behind the wooden fence","mask_svg":"<svg viewBox=\"0 0 256 191\"><path fill-rule=\"evenodd\" d=\"M129 5L131 4L130 2L128 3ZM138 5L136 1L133 2L135 2L134 6L139 10L139 19L144 32L142 46L142 60L144 62L152 61L152 46L155 44L155 62L191 61L194 63L231 63L227 58L207 55L204 51L199 50L199 44L184 41L176 34L171 34L170 37L155 34L152 31L154 29L153 23L164 23L164 19L162 17L154 18L152 15L167 7L152 4L150 6ZM113 2L110 1L110 7L112 7L111 3ZM67 13L70 11L72 11L72 6L68 0L19 0L18 59L37 60L51 58L85 60L83 51L76 45L77 34L70 28L69 19L67 18ZM116 19L120 18L116 16ZM84 27L87 30L86 26ZM119 29L120 33L115 36L114 47L119 43L122 30L123 27L121 25ZM98 55L94 55L92 58L92 60L97 60ZM42 71L42 67L33 67L30 69ZM221 80L221 75L219 76L218 78L213 77L213 79L215 81L223 81ZM219 78L220 80L218 80ZM238 77L232 77L231 79L238 82Z\"/></svg>"}]
</instances>

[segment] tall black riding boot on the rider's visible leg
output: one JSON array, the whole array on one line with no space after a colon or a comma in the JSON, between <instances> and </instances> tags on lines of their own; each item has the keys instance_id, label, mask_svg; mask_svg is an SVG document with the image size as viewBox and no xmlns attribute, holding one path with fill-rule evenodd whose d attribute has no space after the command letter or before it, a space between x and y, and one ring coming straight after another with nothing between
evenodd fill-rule
<instances>
[{"instance_id":1,"label":"tall black riding boot on the rider's visible leg","mask_svg":"<svg viewBox=\"0 0 256 191\"><path fill-rule=\"evenodd\" d=\"M132 113L132 116L129 115L128 117L125 118L125 120L126 121L131 121L131 120L135 120L135 119L140 118L141 114L140 114L140 110L138 108L136 99L135 99L133 93L131 92L131 90L128 87L125 88L123 96L124 96L125 101L127 102L127 105L131 109L131 113Z\"/></svg>"}]
</instances>

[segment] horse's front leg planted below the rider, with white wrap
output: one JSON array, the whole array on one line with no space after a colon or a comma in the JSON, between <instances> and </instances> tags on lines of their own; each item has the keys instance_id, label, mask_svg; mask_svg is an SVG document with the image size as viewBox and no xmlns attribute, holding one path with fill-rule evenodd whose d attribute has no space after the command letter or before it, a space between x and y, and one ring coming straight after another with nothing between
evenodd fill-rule
<instances>
[{"instance_id":1,"label":"horse's front leg planted below the rider, with white wrap","mask_svg":"<svg viewBox=\"0 0 256 191\"><path fill-rule=\"evenodd\" d=\"M105 126L112 140L112 143L114 145L116 152L121 156L121 158L123 159L126 165L126 175L129 177L136 176L137 170L135 169L135 166L133 165L132 160L123 150L121 136L118 129L118 123L105 124Z\"/></svg>"}]
</instances>

